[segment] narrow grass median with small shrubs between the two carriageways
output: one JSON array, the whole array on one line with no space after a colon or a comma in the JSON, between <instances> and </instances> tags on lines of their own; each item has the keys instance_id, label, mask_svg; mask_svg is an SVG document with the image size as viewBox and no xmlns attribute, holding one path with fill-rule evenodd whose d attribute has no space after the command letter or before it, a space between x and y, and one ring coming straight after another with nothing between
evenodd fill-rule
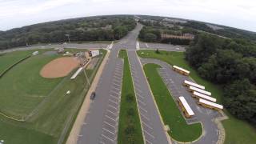
<instances>
[{"instance_id":1,"label":"narrow grass median with small shrubs between the two carriageways","mask_svg":"<svg viewBox=\"0 0 256 144\"><path fill-rule=\"evenodd\" d=\"M118 124L118 144L141 144L144 143L142 137L142 127L138 116L138 107L134 94L134 85L130 74L130 65L126 50L120 50L118 57L123 58L124 60L121 107ZM129 125L133 126L133 130L129 130Z\"/></svg>"}]
</instances>

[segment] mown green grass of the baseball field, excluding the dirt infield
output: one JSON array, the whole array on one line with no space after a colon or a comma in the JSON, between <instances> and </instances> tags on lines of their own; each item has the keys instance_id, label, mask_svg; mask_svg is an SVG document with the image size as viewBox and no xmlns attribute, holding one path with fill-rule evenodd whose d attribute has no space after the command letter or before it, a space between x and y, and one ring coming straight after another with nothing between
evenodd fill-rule
<instances>
[{"instance_id":1,"label":"mown green grass of the baseball field, excluding the dirt infield","mask_svg":"<svg viewBox=\"0 0 256 144\"><path fill-rule=\"evenodd\" d=\"M102 52L106 54L105 50ZM83 73L70 80L75 70L64 78L42 78L38 73L42 66L58 57L61 56L39 54L28 58L0 79L0 90L5 91L0 98L6 101L0 104L1 111L6 110L3 108L6 106L10 114L18 117L21 115L18 111L27 115L34 110L26 122L13 121L0 115L0 139L5 143L55 144L59 139L65 142L89 86ZM98 66L90 71L89 77L94 77L97 70ZM68 95L67 90L71 91Z\"/></svg>"}]
</instances>

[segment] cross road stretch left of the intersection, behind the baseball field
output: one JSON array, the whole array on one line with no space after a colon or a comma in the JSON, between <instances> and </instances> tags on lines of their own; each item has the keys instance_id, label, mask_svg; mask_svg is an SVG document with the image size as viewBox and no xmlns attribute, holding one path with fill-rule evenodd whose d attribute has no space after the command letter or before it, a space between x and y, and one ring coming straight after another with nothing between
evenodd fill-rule
<instances>
[{"instance_id":1,"label":"cross road stretch left of the intersection, behind the baseball field","mask_svg":"<svg viewBox=\"0 0 256 144\"><path fill-rule=\"evenodd\" d=\"M0 50L1 53L9 53L12 51L18 51L18 50L35 50L35 49L50 49L50 48L74 48L74 49L104 49L107 46L109 46L110 43L67 43L67 44L52 44L52 45L34 45L34 46L22 46L22 47L15 47L13 49L8 50Z\"/></svg>"}]
</instances>

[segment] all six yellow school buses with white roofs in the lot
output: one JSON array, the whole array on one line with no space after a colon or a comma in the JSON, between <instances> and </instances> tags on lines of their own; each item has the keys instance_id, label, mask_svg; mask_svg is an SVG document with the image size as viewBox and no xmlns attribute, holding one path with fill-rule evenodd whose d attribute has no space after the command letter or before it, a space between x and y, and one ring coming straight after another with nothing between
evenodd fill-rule
<instances>
[{"instance_id":1,"label":"all six yellow school buses with white roofs in the lot","mask_svg":"<svg viewBox=\"0 0 256 144\"><path fill-rule=\"evenodd\" d=\"M188 76L190 71L183 69L179 66L173 66L173 70L177 71L180 74L184 74ZM222 110L223 106L215 103L217 100L216 98L211 97L211 93L205 90L205 86L198 85L197 83L184 81L184 86L187 86L189 91L192 93L193 98L198 99L198 105L205 106L207 108L213 110ZM178 98L178 104L181 106L183 113L185 114L186 118L190 118L194 115L194 111L190 108L189 104L186 102L184 97Z\"/></svg>"}]
</instances>

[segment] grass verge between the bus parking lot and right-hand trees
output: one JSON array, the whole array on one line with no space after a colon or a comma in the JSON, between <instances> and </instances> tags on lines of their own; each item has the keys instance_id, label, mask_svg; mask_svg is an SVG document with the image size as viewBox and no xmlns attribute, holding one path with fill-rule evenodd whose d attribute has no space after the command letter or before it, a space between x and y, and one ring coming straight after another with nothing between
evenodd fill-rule
<instances>
[{"instance_id":1,"label":"grass verge between the bus parking lot and right-hand trees","mask_svg":"<svg viewBox=\"0 0 256 144\"><path fill-rule=\"evenodd\" d=\"M218 99L218 103L222 103L223 93L221 87L200 78L198 73L189 66L188 62L186 62L184 53L160 51L160 54L156 54L154 50L138 50L137 53L142 58L156 58L167 62L170 65L181 66L186 70L190 70L190 77L198 82L198 84L206 86L206 90L209 90L213 97ZM250 126L248 122L234 118L226 110L225 113L229 116L229 119L222 121L226 130L225 143L254 144L256 142L255 128Z\"/></svg>"}]
</instances>

